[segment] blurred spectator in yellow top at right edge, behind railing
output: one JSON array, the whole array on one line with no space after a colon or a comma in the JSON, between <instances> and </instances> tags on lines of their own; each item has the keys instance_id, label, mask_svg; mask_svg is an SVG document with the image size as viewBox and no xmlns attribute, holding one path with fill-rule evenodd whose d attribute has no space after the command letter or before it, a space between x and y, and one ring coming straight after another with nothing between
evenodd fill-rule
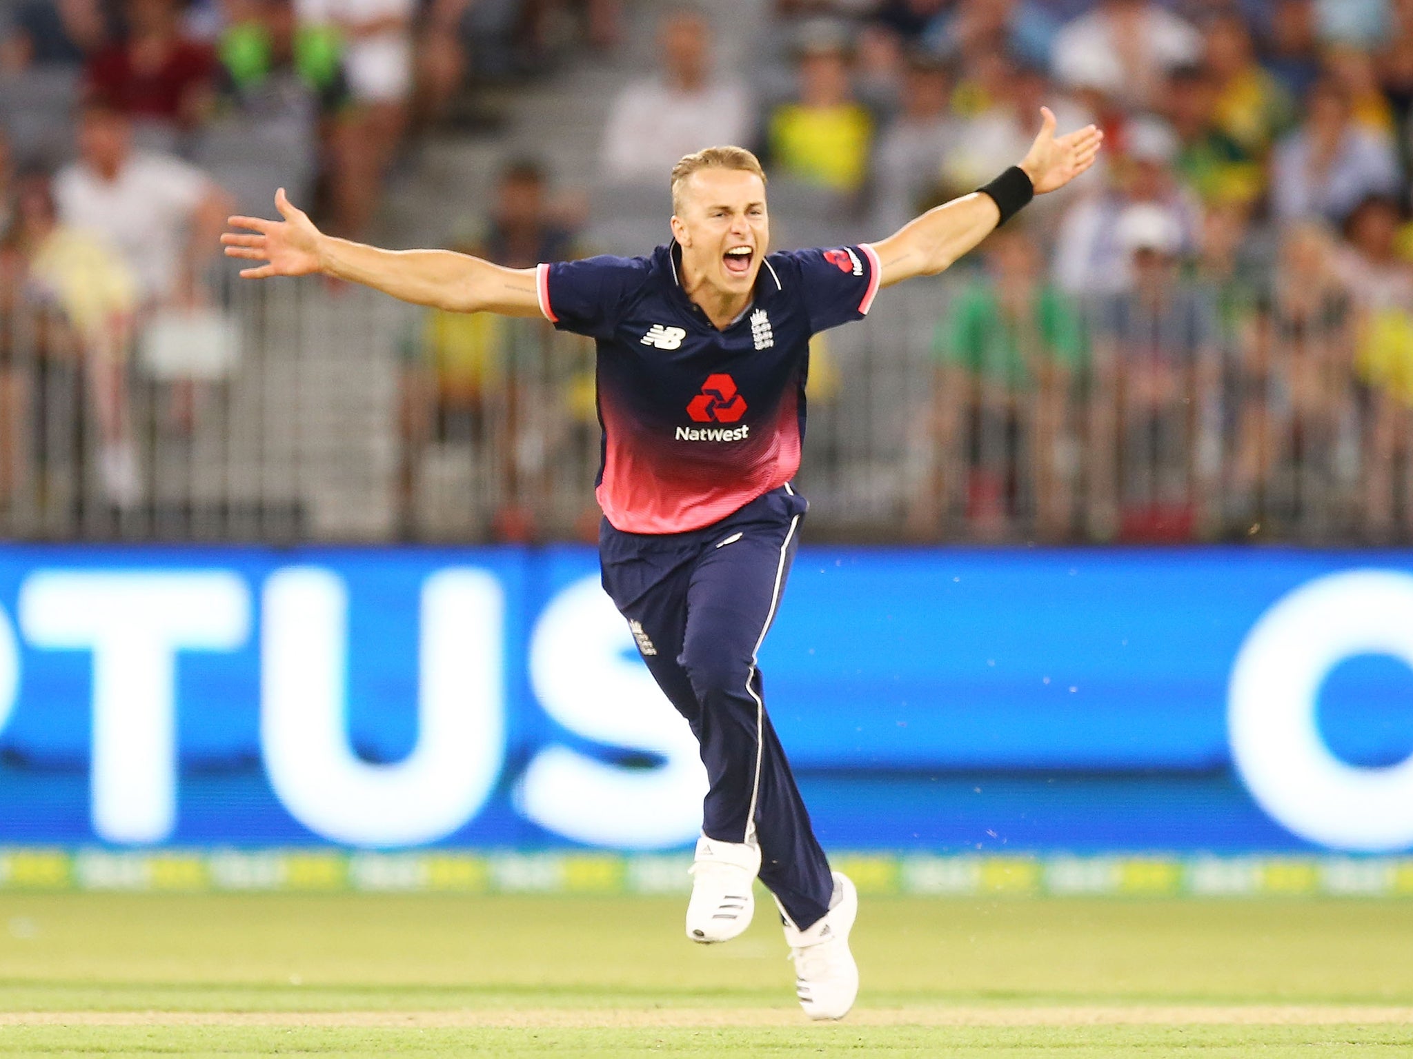
<instances>
[{"instance_id":1,"label":"blurred spectator in yellow top at right edge, behind railing","mask_svg":"<svg viewBox=\"0 0 1413 1059\"><path fill-rule=\"evenodd\" d=\"M1355 370L1368 385L1365 407L1365 520L1373 539L1393 531L1393 470L1413 460L1413 265L1395 250L1400 222L1393 199L1372 196L1345 222L1335 268L1355 308ZM1407 505L1413 522L1413 504Z\"/></svg>"}]
</instances>

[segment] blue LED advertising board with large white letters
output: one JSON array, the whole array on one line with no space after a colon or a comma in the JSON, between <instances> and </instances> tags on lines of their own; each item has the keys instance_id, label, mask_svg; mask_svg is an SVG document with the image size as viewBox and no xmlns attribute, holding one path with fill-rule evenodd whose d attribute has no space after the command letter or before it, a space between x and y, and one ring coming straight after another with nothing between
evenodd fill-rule
<instances>
[{"instance_id":1,"label":"blue LED advertising board with large white letters","mask_svg":"<svg viewBox=\"0 0 1413 1059\"><path fill-rule=\"evenodd\" d=\"M803 548L827 846L1413 847L1413 554ZM0 844L677 849L704 775L584 548L0 549Z\"/></svg>"}]
</instances>

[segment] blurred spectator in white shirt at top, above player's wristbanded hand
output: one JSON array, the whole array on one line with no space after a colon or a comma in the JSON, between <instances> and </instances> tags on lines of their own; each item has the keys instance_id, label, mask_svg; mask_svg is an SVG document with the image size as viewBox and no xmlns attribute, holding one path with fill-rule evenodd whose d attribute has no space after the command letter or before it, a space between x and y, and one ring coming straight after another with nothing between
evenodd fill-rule
<instances>
[{"instance_id":1,"label":"blurred spectator in white shirt at top, above player's wristbanded hand","mask_svg":"<svg viewBox=\"0 0 1413 1059\"><path fill-rule=\"evenodd\" d=\"M1143 110L1169 71L1202 58L1202 37L1153 0L1099 0L1060 30L1053 55L1061 83L1102 88Z\"/></svg>"}]
</instances>

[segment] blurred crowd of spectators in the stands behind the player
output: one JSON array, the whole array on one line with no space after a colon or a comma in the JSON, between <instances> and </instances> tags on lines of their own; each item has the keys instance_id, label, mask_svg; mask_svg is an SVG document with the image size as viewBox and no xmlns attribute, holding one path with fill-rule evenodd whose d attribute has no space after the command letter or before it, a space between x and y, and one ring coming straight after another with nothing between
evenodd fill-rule
<instances>
[{"instance_id":1,"label":"blurred crowd of spectators in the stands behind the player","mask_svg":"<svg viewBox=\"0 0 1413 1059\"><path fill-rule=\"evenodd\" d=\"M0 288L13 299L31 277L79 336L114 498L137 491L131 319L199 301L215 220L264 209L276 168L329 230L365 233L408 137L475 124L468 69L544 71L569 7L13 8ZM1063 128L1105 130L1096 172L938 287L927 384L896 417L909 535L1413 535L1413 0L774 0L729 51L712 7L572 7L582 44L606 54L630 13L654 18L658 69L610 102L596 172L555 186L543 160L507 161L480 232L458 243L504 264L644 251L664 230L666 174L706 143L757 150L777 243L804 244L879 239L974 189L1024 152L1041 103ZM73 106L76 157L54 120ZM516 374L499 325L430 313L414 332L408 497L428 445L492 445L486 408ZM0 422L21 400L4 364ZM832 373L821 350L812 385ZM561 390L579 443L592 402ZM179 388L168 415L189 415ZM497 419L502 477L547 459L545 438L523 436L534 422ZM0 429L0 504L20 443ZM497 525L536 532L519 510Z\"/></svg>"}]
</instances>

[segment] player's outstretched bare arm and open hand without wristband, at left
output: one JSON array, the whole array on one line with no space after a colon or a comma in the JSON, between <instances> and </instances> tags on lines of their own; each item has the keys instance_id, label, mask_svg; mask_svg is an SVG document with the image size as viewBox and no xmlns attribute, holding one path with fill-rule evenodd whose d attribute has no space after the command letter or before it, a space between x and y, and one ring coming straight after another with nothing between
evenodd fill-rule
<instances>
[{"instance_id":1,"label":"player's outstretched bare arm and open hand without wristband, at left","mask_svg":"<svg viewBox=\"0 0 1413 1059\"><path fill-rule=\"evenodd\" d=\"M541 315L534 268L502 268L451 250L379 250L325 236L304 210L290 203L284 188L276 193L274 205L284 220L230 217L232 227L254 234L226 232L220 237L226 257L264 261L240 270L249 280L324 273L404 302L452 312Z\"/></svg>"}]
</instances>

